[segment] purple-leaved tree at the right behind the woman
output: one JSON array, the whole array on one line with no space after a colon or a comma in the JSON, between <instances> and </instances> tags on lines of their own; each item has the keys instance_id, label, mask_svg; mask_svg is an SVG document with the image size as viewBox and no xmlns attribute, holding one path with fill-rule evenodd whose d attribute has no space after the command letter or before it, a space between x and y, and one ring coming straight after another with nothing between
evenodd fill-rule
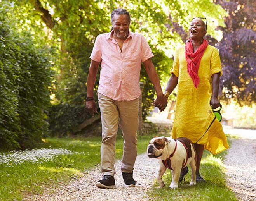
<instances>
[{"instance_id":1,"label":"purple-leaved tree at the right behind the woman","mask_svg":"<svg viewBox=\"0 0 256 201\"><path fill-rule=\"evenodd\" d=\"M230 0L219 3L229 14L221 41L212 40L219 49L223 66L221 96L240 105L255 103L255 3L248 0Z\"/></svg>"}]
</instances>

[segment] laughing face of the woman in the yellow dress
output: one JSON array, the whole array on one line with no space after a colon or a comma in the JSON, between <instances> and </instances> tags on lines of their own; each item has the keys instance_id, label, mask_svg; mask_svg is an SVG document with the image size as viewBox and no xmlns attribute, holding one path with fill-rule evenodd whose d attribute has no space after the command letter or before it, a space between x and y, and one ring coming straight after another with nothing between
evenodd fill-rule
<instances>
[{"instance_id":1,"label":"laughing face of the woman in the yellow dress","mask_svg":"<svg viewBox=\"0 0 256 201\"><path fill-rule=\"evenodd\" d=\"M200 18L195 18L190 22L189 36L193 40L202 40L206 34L205 23Z\"/></svg>"}]
</instances>

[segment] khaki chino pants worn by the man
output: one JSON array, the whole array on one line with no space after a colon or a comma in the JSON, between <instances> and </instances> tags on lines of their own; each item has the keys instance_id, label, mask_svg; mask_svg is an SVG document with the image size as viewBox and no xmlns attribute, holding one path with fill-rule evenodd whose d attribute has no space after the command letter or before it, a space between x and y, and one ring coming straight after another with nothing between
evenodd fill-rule
<instances>
[{"instance_id":1,"label":"khaki chino pants worn by the man","mask_svg":"<svg viewBox=\"0 0 256 201\"><path fill-rule=\"evenodd\" d=\"M139 98L131 101L116 101L98 93L98 100L102 123L102 175L114 176L116 173L114 165L118 124L124 139L121 171L132 172L137 157Z\"/></svg>"}]
</instances>

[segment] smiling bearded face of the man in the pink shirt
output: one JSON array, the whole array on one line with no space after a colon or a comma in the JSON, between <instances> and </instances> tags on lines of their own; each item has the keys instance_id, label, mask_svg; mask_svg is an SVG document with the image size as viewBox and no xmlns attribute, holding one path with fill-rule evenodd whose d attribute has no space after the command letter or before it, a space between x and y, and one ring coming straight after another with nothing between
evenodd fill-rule
<instances>
[{"instance_id":1,"label":"smiling bearded face of the man in the pink shirt","mask_svg":"<svg viewBox=\"0 0 256 201\"><path fill-rule=\"evenodd\" d=\"M126 39L129 33L130 22L128 15L114 15L112 27L115 35L120 39Z\"/></svg>"}]
</instances>

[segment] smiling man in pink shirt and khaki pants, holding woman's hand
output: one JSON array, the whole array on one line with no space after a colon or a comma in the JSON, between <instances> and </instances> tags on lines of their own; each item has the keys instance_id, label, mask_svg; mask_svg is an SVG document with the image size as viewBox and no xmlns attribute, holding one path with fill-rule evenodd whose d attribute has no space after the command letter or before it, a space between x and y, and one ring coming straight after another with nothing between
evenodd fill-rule
<instances>
[{"instance_id":1,"label":"smiling man in pink shirt and khaki pants, holding woman's hand","mask_svg":"<svg viewBox=\"0 0 256 201\"><path fill-rule=\"evenodd\" d=\"M97 36L91 53L91 64L87 77L86 109L94 116L97 113L93 98L99 64L101 73L98 100L101 110L102 144L101 172L103 179L96 183L99 188L115 188L115 141L118 122L124 138L121 162L122 176L127 186L135 186L134 163L137 156L137 129L139 110L139 74L141 62L157 93L157 103L163 108L167 100L162 93L160 81L151 58L153 53L145 38L129 31L131 18L125 9L111 13L113 30Z\"/></svg>"}]
</instances>

